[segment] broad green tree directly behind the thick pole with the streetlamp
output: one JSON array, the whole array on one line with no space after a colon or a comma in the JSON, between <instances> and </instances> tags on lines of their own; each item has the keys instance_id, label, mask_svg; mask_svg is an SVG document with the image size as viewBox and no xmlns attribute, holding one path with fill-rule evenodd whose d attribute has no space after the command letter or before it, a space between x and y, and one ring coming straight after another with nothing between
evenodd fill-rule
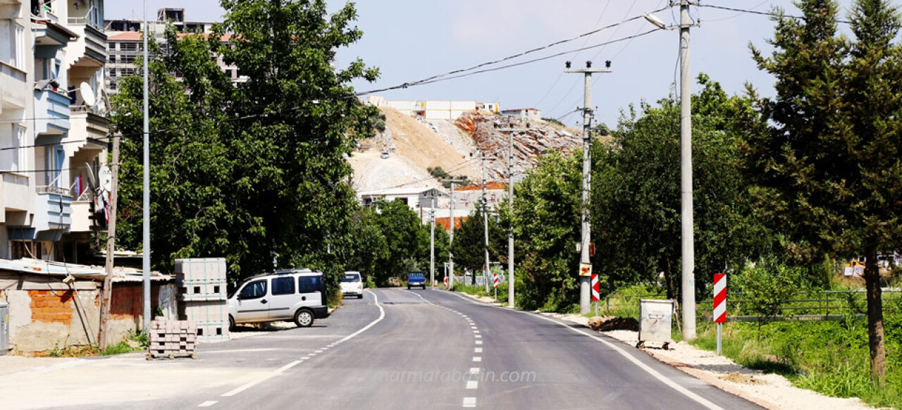
<instances>
[{"instance_id":1,"label":"broad green tree directly behind the thick pole with the streetlamp","mask_svg":"<svg viewBox=\"0 0 902 410\"><path fill-rule=\"evenodd\" d=\"M767 247L769 234L750 216L746 179L737 166L736 119L750 114L750 99L727 96L699 75L693 96L695 283L702 290L714 273L741 268ZM593 158L593 236L596 271L613 288L654 282L664 274L668 297L679 284L679 102L674 96L639 114L624 114L610 144ZM676 277L676 280L675 280Z\"/></svg>"}]
</instances>

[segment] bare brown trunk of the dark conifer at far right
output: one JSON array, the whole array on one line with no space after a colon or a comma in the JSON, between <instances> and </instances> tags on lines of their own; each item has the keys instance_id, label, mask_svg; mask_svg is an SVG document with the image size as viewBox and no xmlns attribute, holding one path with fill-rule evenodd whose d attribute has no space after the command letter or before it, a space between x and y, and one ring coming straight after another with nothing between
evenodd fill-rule
<instances>
[{"instance_id":1,"label":"bare brown trunk of the dark conifer at far right","mask_svg":"<svg viewBox=\"0 0 902 410\"><path fill-rule=\"evenodd\" d=\"M870 378L885 386L887 351L883 339L883 299L880 291L880 269L876 248L865 253L864 284L868 289L868 347L870 349Z\"/></svg>"}]
</instances>

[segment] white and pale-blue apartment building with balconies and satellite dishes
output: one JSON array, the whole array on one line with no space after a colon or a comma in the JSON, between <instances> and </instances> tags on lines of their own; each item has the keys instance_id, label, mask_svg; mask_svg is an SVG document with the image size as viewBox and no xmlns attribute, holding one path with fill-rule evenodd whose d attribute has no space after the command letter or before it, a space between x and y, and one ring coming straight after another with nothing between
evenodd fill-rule
<instances>
[{"instance_id":1,"label":"white and pale-blue apartment building with balconies and satellite dishes","mask_svg":"<svg viewBox=\"0 0 902 410\"><path fill-rule=\"evenodd\" d=\"M101 22L103 0L0 0L0 259L77 262L105 228Z\"/></svg>"}]
</instances>

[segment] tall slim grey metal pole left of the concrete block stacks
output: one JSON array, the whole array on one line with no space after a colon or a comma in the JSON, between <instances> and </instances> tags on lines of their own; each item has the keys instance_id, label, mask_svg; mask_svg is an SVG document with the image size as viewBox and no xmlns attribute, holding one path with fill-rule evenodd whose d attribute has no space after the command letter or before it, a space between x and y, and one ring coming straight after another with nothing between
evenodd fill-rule
<instances>
[{"instance_id":1,"label":"tall slim grey metal pole left of the concrete block stacks","mask_svg":"<svg viewBox=\"0 0 902 410\"><path fill-rule=\"evenodd\" d=\"M147 37L151 35L147 24L147 0L144 0L144 210L143 210L143 270L144 270L144 327L147 334L151 329L151 147L150 147L150 97L148 96L148 66L151 60L147 55Z\"/></svg>"}]
</instances>

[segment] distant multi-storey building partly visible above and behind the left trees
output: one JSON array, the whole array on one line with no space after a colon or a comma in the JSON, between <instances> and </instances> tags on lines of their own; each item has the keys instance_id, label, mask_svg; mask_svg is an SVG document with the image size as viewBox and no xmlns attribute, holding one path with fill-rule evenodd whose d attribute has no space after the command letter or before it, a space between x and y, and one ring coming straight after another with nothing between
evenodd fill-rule
<instances>
[{"instance_id":1,"label":"distant multi-storey building partly visible above and behind the left trees","mask_svg":"<svg viewBox=\"0 0 902 410\"><path fill-rule=\"evenodd\" d=\"M189 22L185 20L185 9L183 8L162 8L157 11L157 18L154 21L147 22L149 31L153 34L153 39L166 50L166 39L163 33L166 31L167 24L171 24L177 32L179 38L192 34L207 34L213 31L215 22ZM109 61L106 66L106 90L109 93L117 93L119 91L119 79L122 77L140 74L135 60L142 59L143 56L143 20L120 19L106 20L104 22L107 34ZM226 34L222 37L222 41L227 43L231 40L231 35ZM233 82L243 82L247 77L238 74L238 68L226 65L226 62L219 57L216 63L222 68L223 72Z\"/></svg>"}]
</instances>

